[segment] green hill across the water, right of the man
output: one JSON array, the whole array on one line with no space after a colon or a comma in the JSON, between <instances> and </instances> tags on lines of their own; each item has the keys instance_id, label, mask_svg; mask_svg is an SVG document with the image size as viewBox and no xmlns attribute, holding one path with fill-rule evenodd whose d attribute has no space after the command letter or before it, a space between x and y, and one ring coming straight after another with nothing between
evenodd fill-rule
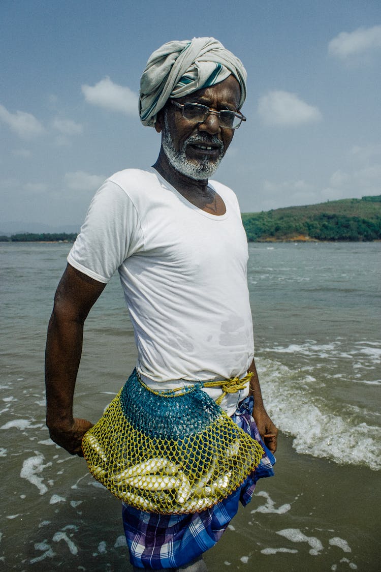
<instances>
[{"instance_id":1,"label":"green hill across the water, right of the man","mask_svg":"<svg viewBox=\"0 0 381 572\"><path fill-rule=\"evenodd\" d=\"M243 213L248 241L380 240L381 195Z\"/></svg>"}]
</instances>

